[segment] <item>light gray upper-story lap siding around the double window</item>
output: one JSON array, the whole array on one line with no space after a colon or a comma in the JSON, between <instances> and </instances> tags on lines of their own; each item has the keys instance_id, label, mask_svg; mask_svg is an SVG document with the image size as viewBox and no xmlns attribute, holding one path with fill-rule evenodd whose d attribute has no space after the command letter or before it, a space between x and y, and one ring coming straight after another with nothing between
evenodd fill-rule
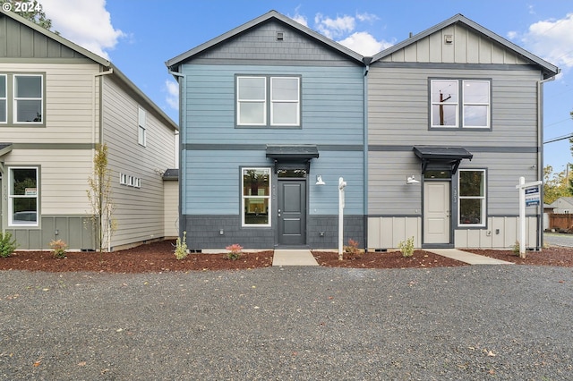
<instances>
[{"instance_id":1,"label":"light gray upper-story lap siding around the double window","mask_svg":"<svg viewBox=\"0 0 573 381\"><path fill-rule=\"evenodd\" d=\"M492 79L492 131L428 131L429 78ZM369 144L537 147L535 71L372 68Z\"/></svg>"}]
</instances>

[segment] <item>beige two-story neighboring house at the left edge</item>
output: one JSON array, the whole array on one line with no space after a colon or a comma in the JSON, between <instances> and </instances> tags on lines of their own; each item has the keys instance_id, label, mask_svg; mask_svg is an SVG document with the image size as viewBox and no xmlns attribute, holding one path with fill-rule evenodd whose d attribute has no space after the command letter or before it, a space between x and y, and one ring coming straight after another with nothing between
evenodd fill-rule
<instances>
[{"instance_id":1,"label":"beige two-story neighboring house at the left edge","mask_svg":"<svg viewBox=\"0 0 573 381\"><path fill-rule=\"evenodd\" d=\"M176 236L177 132L113 63L0 11L0 231L20 249L98 248L87 190L99 143L117 223L109 248Z\"/></svg>"}]
</instances>

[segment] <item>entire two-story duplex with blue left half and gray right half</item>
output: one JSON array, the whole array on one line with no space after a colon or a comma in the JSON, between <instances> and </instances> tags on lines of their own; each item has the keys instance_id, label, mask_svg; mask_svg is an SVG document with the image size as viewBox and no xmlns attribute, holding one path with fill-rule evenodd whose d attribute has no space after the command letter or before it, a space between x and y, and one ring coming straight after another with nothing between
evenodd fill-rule
<instances>
[{"instance_id":1,"label":"entire two-story duplex with blue left half and gray right half","mask_svg":"<svg viewBox=\"0 0 573 381\"><path fill-rule=\"evenodd\" d=\"M271 11L167 61L193 250L509 248L558 68L462 15L363 57ZM539 248L541 212L527 211Z\"/></svg>"}]
</instances>

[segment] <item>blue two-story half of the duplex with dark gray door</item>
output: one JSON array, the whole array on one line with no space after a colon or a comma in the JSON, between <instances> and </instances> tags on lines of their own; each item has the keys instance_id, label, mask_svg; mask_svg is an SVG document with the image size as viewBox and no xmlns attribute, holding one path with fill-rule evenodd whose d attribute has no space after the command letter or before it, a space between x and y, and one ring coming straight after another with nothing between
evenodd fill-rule
<instances>
[{"instance_id":1,"label":"blue two-story half of the duplex with dark gray door","mask_svg":"<svg viewBox=\"0 0 573 381\"><path fill-rule=\"evenodd\" d=\"M346 234L363 241L361 55L273 11L166 64L189 248L335 247L340 177Z\"/></svg>"}]
</instances>

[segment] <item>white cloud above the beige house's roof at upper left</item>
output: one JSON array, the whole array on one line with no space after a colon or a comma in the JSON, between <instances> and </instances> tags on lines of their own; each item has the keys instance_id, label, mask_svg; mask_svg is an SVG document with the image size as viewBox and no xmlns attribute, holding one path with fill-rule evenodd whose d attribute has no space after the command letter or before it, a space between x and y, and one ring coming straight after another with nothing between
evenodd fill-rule
<instances>
[{"instance_id":1,"label":"white cloud above the beige house's roof at upper left","mask_svg":"<svg viewBox=\"0 0 573 381\"><path fill-rule=\"evenodd\" d=\"M111 23L105 0L41 0L52 30L90 52L109 58L124 32Z\"/></svg>"}]
</instances>

